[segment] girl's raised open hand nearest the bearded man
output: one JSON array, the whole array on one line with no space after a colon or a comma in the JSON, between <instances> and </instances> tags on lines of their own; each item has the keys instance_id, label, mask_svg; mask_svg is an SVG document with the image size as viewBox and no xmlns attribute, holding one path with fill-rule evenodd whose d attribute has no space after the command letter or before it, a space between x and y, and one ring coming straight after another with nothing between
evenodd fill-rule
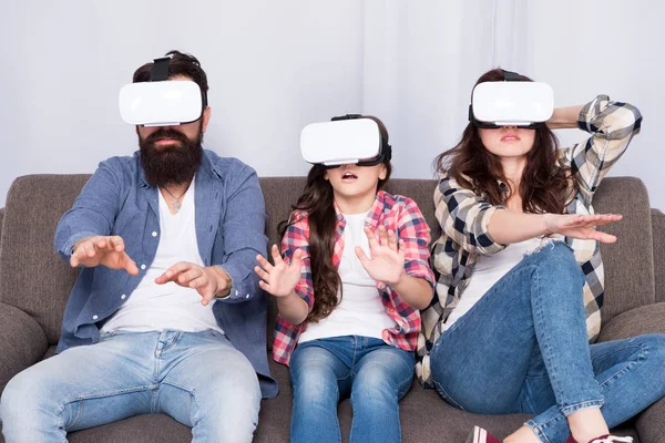
<instances>
[{"instance_id":1,"label":"girl's raised open hand nearest the bearded man","mask_svg":"<svg viewBox=\"0 0 665 443\"><path fill-rule=\"evenodd\" d=\"M277 245L273 245L270 254L275 265L270 265L263 256L256 256L259 266L256 266L254 271L260 277L258 286L275 297L286 297L294 291L300 280L303 250L296 249L290 265L282 259Z\"/></svg>"}]
</instances>

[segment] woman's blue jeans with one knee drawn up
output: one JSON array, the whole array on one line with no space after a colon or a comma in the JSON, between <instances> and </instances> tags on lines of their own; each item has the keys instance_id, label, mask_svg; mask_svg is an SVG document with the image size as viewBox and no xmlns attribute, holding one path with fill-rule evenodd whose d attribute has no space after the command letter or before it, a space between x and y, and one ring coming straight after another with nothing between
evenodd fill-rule
<instances>
[{"instance_id":1,"label":"woman's blue jeans with one knee drawn up","mask_svg":"<svg viewBox=\"0 0 665 443\"><path fill-rule=\"evenodd\" d=\"M612 427L661 399L665 336L590 347L583 284L561 241L525 256L432 347L441 396L474 413L536 414L526 425L551 443L566 441L575 411L602 406Z\"/></svg>"}]
</instances>

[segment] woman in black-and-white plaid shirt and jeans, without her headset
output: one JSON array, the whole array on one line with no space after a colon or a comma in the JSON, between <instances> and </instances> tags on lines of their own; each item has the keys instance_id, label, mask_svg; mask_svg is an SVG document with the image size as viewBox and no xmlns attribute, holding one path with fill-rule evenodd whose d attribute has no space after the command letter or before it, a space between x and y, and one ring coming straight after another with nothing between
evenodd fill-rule
<instances>
[{"instance_id":1,"label":"woman in black-and-white plaid shirt and jeans, without her headset","mask_svg":"<svg viewBox=\"0 0 665 443\"><path fill-rule=\"evenodd\" d=\"M493 70L478 83L503 80ZM598 243L616 240L594 227L621 219L591 204L641 121L598 95L538 128L470 123L438 157L438 302L417 370L457 408L535 414L504 442L630 442L608 429L665 394L665 336L587 341L601 326ZM557 151L551 130L565 127L592 136ZM499 440L477 427L469 442Z\"/></svg>"}]
</instances>

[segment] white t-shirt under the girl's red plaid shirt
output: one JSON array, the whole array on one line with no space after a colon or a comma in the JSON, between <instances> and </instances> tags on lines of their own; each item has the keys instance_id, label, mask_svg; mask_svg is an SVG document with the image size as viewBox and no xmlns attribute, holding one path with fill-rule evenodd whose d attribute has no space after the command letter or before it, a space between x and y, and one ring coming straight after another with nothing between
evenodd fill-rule
<instances>
[{"instance_id":1,"label":"white t-shirt under the girl's red plaid shirt","mask_svg":"<svg viewBox=\"0 0 665 443\"><path fill-rule=\"evenodd\" d=\"M298 343L340 336L381 339L383 329L395 328L396 322L386 312L376 281L367 274L356 256L356 246L359 246L368 257L371 257L369 241L362 229L367 215L368 213L344 215L346 220L342 236L344 251L338 269L344 289L341 302L318 323L307 323L307 328L298 338Z\"/></svg>"}]
</instances>

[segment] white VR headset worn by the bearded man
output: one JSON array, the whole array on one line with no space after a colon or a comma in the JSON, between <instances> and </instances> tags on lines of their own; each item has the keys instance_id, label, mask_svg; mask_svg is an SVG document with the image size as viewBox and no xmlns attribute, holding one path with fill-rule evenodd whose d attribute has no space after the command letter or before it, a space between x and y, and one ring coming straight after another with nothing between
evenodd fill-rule
<instances>
[{"instance_id":1,"label":"white VR headset worn by the bearded man","mask_svg":"<svg viewBox=\"0 0 665 443\"><path fill-rule=\"evenodd\" d=\"M130 83L120 90L120 115L126 123L175 126L203 115L207 99L190 80L168 80L170 56L155 59L150 82Z\"/></svg>"}]
</instances>

